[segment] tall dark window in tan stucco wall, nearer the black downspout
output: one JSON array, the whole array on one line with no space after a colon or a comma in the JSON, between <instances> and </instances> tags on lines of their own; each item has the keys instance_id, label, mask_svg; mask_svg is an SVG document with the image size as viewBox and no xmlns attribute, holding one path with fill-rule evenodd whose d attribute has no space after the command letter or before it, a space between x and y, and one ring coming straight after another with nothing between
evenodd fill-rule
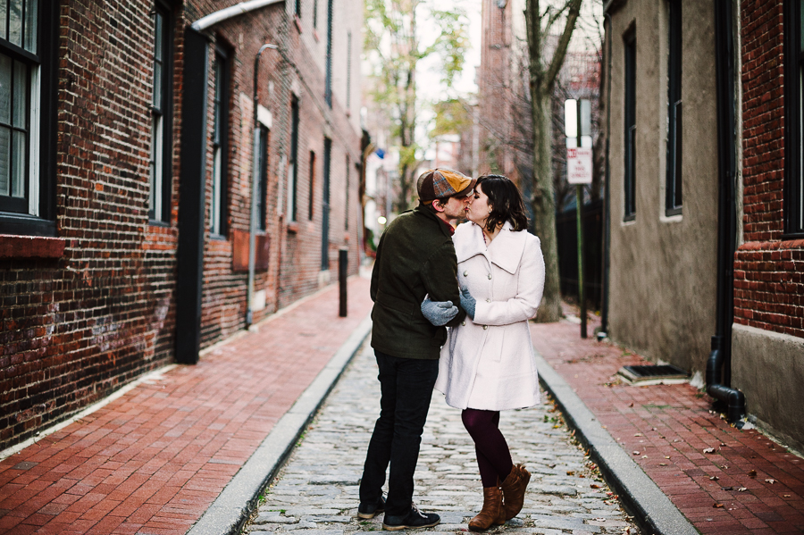
<instances>
[{"instance_id":1,"label":"tall dark window in tan stucco wall, nearer the black downspout","mask_svg":"<svg viewBox=\"0 0 804 535\"><path fill-rule=\"evenodd\" d=\"M667 161L665 215L679 215L683 206L682 3L668 0Z\"/></svg>"}]
</instances>

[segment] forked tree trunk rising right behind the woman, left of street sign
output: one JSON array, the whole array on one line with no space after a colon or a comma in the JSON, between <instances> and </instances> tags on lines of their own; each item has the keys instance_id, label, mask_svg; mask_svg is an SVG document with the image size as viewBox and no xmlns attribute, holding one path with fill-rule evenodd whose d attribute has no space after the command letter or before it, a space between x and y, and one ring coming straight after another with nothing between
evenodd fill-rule
<instances>
[{"instance_id":1,"label":"forked tree trunk rising right behind the woman, left of street sign","mask_svg":"<svg viewBox=\"0 0 804 535\"><path fill-rule=\"evenodd\" d=\"M581 13L582 0L567 0L558 7L541 9L540 0L525 1L525 28L528 37L529 86L533 121L533 183L531 205L533 224L541 239L544 254L545 285L541 299L540 322L557 322L561 318L561 294L558 280L558 249L556 242L556 201L553 192L552 117L553 88L558 71L564 63L567 46L572 38L575 21ZM563 21L557 46L551 57L547 37Z\"/></svg>"}]
</instances>

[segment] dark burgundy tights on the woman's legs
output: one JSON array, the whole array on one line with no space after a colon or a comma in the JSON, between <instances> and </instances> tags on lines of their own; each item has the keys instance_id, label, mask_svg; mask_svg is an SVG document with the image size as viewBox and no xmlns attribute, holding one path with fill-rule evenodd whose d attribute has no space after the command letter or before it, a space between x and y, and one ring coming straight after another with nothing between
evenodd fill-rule
<instances>
[{"instance_id":1,"label":"dark burgundy tights on the woman's legs","mask_svg":"<svg viewBox=\"0 0 804 535\"><path fill-rule=\"evenodd\" d=\"M506 438L499 432L499 411L464 409L461 420L474 440L483 487L497 487L497 478L505 481L514 467Z\"/></svg>"}]
</instances>

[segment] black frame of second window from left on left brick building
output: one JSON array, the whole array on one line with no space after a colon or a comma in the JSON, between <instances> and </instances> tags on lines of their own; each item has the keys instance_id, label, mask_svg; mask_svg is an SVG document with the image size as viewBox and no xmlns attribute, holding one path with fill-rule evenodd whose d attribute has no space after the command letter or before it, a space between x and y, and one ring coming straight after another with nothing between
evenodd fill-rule
<instances>
[{"instance_id":1,"label":"black frame of second window from left on left brick building","mask_svg":"<svg viewBox=\"0 0 804 535\"><path fill-rule=\"evenodd\" d=\"M151 99L151 117L152 125L153 118L159 116L162 118L162 199L160 202L161 211L156 213L155 206L150 205L150 197L148 199L148 220L152 225L170 225L172 213L172 141L173 141L173 41L175 40L175 18L173 17L172 7L170 4L157 0L154 4L153 20L156 21L156 16L163 18L163 36L162 36L162 87L160 90L160 106L156 106ZM155 27L154 27L155 32ZM152 34L156 38L155 34ZM155 43L154 43L155 44ZM155 63L156 58L153 59L153 69L151 73L151 80L155 82ZM155 93L156 88L153 88ZM153 126L152 126L153 130ZM154 134L151 134L151 143L155 142ZM153 187L151 182L151 172L148 171L148 187Z\"/></svg>"}]
</instances>

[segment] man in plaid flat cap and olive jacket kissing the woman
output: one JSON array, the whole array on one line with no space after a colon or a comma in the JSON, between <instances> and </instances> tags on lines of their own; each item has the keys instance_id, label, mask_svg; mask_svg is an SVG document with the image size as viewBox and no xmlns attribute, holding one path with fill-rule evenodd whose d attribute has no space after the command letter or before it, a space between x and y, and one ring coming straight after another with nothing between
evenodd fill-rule
<instances>
[{"instance_id":1,"label":"man in plaid flat cap and olive jacket kissing the woman","mask_svg":"<svg viewBox=\"0 0 804 535\"><path fill-rule=\"evenodd\" d=\"M412 503L424 421L439 372L445 325L461 322L457 259L449 220L463 217L476 180L431 169L416 181L419 205L401 213L380 238L372 274L372 347L380 368L380 418L374 425L360 482L357 516L382 511L382 528L427 528L438 514ZM431 302L423 305L425 297ZM388 498L382 485L390 463Z\"/></svg>"}]
</instances>

